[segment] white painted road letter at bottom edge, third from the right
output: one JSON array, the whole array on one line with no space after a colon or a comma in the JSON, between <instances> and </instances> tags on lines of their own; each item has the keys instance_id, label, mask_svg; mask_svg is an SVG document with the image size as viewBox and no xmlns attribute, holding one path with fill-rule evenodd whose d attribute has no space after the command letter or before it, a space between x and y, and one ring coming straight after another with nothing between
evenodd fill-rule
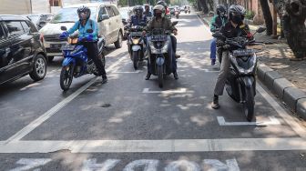
<instances>
[{"instance_id":1,"label":"white painted road letter at bottom edge, third from the right","mask_svg":"<svg viewBox=\"0 0 306 171\"><path fill-rule=\"evenodd\" d=\"M143 171L157 171L158 160L148 160L148 159L140 159L130 162L123 171L134 171L137 170L139 166L144 166Z\"/></svg>"}]
</instances>

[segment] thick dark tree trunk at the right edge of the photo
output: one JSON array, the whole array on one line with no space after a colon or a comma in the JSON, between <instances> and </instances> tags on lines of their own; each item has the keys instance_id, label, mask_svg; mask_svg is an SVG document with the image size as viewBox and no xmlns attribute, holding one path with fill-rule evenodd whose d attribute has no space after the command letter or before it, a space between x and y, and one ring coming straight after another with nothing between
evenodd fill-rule
<instances>
[{"instance_id":1,"label":"thick dark tree trunk at the right edge of the photo","mask_svg":"<svg viewBox=\"0 0 306 171\"><path fill-rule=\"evenodd\" d=\"M296 58L306 57L306 1L287 0L283 13L283 31Z\"/></svg>"}]
</instances>

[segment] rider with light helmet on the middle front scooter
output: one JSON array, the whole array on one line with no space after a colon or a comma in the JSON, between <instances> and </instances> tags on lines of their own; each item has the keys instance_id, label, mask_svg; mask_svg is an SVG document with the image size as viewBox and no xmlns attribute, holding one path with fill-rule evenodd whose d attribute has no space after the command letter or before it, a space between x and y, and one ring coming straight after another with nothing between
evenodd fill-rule
<instances>
[{"instance_id":1,"label":"rider with light helmet on the middle front scooter","mask_svg":"<svg viewBox=\"0 0 306 171\"><path fill-rule=\"evenodd\" d=\"M143 34L146 35L146 31L151 31L153 28L163 28L165 30L170 30L174 35L178 35L178 29L175 28L171 24L171 21L165 17L165 7L163 5L156 5L153 8L153 18L148 22L147 27L145 28ZM171 42L172 42L172 49L174 54L177 52L177 38L173 35L171 35ZM173 65L173 75L175 79L179 79L179 75L177 73L177 60L176 58L179 58L179 55L172 55L172 65ZM148 63L149 67L149 63ZM146 76L146 80L150 77L149 69L148 74Z\"/></svg>"}]
</instances>

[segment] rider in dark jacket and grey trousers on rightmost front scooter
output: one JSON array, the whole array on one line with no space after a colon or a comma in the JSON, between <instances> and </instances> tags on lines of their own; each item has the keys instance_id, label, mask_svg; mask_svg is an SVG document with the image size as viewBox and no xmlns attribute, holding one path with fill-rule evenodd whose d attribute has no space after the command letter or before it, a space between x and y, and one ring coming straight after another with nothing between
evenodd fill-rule
<instances>
[{"instance_id":1,"label":"rider in dark jacket and grey trousers on rightmost front scooter","mask_svg":"<svg viewBox=\"0 0 306 171\"><path fill-rule=\"evenodd\" d=\"M247 35L249 38L252 38L249 25L243 24L245 14L246 10L244 7L240 5L231 5L229 8L229 21L224 26L221 26L219 32L227 38L241 35ZM219 108L219 96L223 95L227 75L230 71L229 49L228 47L224 48L224 46L227 46L225 45L224 40L218 39L217 45L223 46L223 52L220 72L214 89L213 102L211 104L211 107L214 109Z\"/></svg>"}]
</instances>

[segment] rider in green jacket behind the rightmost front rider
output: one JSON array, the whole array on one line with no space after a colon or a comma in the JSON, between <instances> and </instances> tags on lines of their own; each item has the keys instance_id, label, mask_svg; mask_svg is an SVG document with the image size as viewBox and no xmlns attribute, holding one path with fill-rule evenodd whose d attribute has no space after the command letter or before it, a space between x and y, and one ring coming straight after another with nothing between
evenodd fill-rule
<instances>
[{"instance_id":1,"label":"rider in green jacket behind the rightmost front rider","mask_svg":"<svg viewBox=\"0 0 306 171\"><path fill-rule=\"evenodd\" d=\"M226 15L226 7L225 5L217 5L216 14L210 21L210 32L215 33L216 29L219 29L222 25L225 25L228 22L228 18ZM210 60L211 65L216 64L216 38L213 38L210 43Z\"/></svg>"}]
</instances>

